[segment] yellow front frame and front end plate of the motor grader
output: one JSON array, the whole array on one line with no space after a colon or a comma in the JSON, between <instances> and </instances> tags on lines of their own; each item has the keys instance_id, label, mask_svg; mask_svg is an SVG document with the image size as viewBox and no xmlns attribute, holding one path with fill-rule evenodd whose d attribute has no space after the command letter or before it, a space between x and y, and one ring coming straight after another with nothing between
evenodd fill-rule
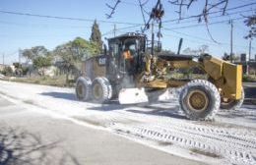
<instances>
[{"instance_id":1,"label":"yellow front frame and front end plate of the motor grader","mask_svg":"<svg viewBox=\"0 0 256 165\"><path fill-rule=\"evenodd\" d=\"M149 59L149 58L148 58ZM153 63L153 64L152 64ZM150 71L150 66L155 65L154 71ZM215 58L212 56L206 56L201 60L194 61L189 60L147 60L146 61L146 73L149 75L164 75L167 68L171 69L184 69L184 68L200 68L204 71L209 80L214 83L224 99L239 100L242 93L242 66L234 65L232 63L226 62L222 59ZM157 77L153 81L146 81L145 84L140 84L141 86L146 85L148 87L177 87L184 83L184 80L168 80L168 79L158 79Z\"/></svg>"}]
</instances>

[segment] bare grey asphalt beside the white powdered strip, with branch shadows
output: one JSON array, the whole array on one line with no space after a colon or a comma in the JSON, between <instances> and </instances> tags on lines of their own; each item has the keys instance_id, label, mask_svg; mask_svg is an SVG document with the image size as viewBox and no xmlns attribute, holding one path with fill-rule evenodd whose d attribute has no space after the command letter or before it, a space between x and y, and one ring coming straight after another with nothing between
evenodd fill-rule
<instances>
[{"instance_id":1,"label":"bare grey asphalt beside the white powdered strip, with branch shadows","mask_svg":"<svg viewBox=\"0 0 256 165\"><path fill-rule=\"evenodd\" d=\"M25 109L0 96L0 164L203 164Z\"/></svg>"}]
</instances>

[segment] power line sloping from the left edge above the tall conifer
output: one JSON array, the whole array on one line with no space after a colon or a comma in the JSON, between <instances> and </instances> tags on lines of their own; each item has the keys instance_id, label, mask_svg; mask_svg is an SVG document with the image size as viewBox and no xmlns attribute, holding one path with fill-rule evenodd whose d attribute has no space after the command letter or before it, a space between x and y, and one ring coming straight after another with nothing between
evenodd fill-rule
<instances>
[{"instance_id":1,"label":"power line sloping from the left edge above the tall conifer","mask_svg":"<svg viewBox=\"0 0 256 165\"><path fill-rule=\"evenodd\" d=\"M18 15L18 16L47 18L47 19L70 20L70 21L92 22L92 23L95 22L95 20L93 20L93 19L71 18L71 17L60 17L60 16L49 16L49 15L37 15L37 14L32 14L32 13L11 12L11 11L3 11L3 10L0 10L0 13L10 14L10 15ZM111 21L104 21L104 20L97 20L97 22L106 23L106 24L143 26L143 24L128 23L128 22L111 22Z\"/></svg>"}]
</instances>

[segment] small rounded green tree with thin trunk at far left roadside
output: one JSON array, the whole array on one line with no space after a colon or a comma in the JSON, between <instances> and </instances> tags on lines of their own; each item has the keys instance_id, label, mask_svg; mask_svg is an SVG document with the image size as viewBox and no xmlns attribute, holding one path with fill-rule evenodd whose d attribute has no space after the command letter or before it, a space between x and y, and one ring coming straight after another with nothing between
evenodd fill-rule
<instances>
[{"instance_id":1,"label":"small rounded green tree with thin trunk at far left roadside","mask_svg":"<svg viewBox=\"0 0 256 165\"><path fill-rule=\"evenodd\" d=\"M42 69L42 76L44 76L45 68L51 66L51 57L38 56L33 59L32 64L36 69Z\"/></svg>"}]
</instances>

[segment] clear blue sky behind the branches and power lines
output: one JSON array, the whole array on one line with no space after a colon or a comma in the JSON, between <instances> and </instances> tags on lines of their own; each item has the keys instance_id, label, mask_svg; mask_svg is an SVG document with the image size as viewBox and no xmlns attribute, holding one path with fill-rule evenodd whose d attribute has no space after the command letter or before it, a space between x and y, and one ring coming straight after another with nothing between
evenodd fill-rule
<instances>
[{"instance_id":1,"label":"clear blue sky behind the branches and power lines","mask_svg":"<svg viewBox=\"0 0 256 165\"><path fill-rule=\"evenodd\" d=\"M150 11L157 0L150 0L145 9ZM163 22L167 20L177 19L178 15L175 13L176 7L170 5L167 0L162 0L165 15ZM249 4L255 2L254 0L232 0L229 1L227 9ZM48 15L69 18L81 18L97 20L101 33L107 33L103 37L113 36L112 32L114 23L107 22L125 22L133 24L143 24L141 11L138 5L138 0L121 0L118 5L113 18L106 19L105 14L110 10L105 6L105 3L114 4L114 0L1 0L0 10L18 13L30 13L36 15ZM191 10L184 12L183 16L191 16L198 14L198 9L203 5L197 3L192 6ZM241 18L241 15L252 15L256 5L239 8L236 10L227 11L229 16L218 17L221 14L210 15L210 23L220 21L227 21L234 19L233 28L233 52L234 53L248 53L248 40L243 36L246 34L248 28L244 26L243 20L235 20ZM185 11L185 10L184 10ZM234 14L238 13L239 14ZM209 25L210 31L214 38L221 42L215 43L211 40L207 28L189 27L197 25L197 21L190 19L181 22L170 22L163 24L163 27L171 28L171 30L162 29L162 45L165 49L176 51L179 37L183 37L182 49L186 47L198 48L200 45L209 45L209 53L222 56L224 52L230 52L229 38L230 25L227 22L222 24ZM0 13L0 63L2 63L2 54L4 53L6 63L18 61L19 48L31 48L36 45L44 45L46 48L52 50L58 44L65 43L74 39L76 36L81 36L86 39L90 38L91 27L93 23L90 21L71 21L71 20L57 20L47 18L37 18L19 15L10 15ZM203 25L203 24L200 24ZM132 25L116 24L117 28L131 27ZM117 34L140 30L141 27L132 27L123 30L117 30ZM103 39L102 37L102 39ZM104 39L103 39L104 40ZM256 54L255 39L252 42L252 54Z\"/></svg>"}]
</instances>

